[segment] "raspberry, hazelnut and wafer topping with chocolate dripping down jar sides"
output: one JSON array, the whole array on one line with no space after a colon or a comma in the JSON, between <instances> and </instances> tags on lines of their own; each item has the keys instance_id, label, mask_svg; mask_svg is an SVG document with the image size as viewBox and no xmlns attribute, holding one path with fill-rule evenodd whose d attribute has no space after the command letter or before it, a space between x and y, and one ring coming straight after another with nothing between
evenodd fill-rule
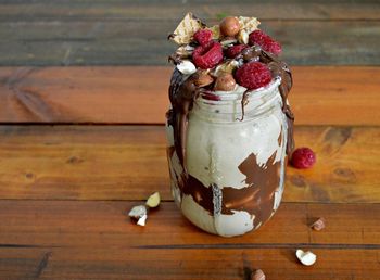
<instances>
[{"instance_id":1,"label":"raspberry, hazelnut and wafer topping with chocolate dripping down jar sides","mask_svg":"<svg viewBox=\"0 0 380 280\"><path fill-rule=\"evenodd\" d=\"M185 166L188 115L195 99L219 100L219 92L243 90L244 105L252 90L263 88L273 79L281 79L279 91L282 111L288 119L287 154L294 148L293 114L288 105L292 76L288 65L278 59L279 42L257 27L255 17L228 16L219 25L206 27L192 13L188 13L168 39L178 43L169 56L176 68L173 73L167 112L168 125L174 128L175 150Z\"/></svg>"}]
</instances>

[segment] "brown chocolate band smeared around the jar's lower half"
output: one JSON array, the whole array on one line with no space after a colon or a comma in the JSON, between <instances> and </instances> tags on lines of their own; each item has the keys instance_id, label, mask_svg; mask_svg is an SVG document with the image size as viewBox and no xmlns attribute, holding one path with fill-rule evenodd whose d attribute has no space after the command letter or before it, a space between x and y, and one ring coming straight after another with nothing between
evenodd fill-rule
<instances>
[{"instance_id":1,"label":"brown chocolate band smeared around the jar's lower half","mask_svg":"<svg viewBox=\"0 0 380 280\"><path fill-rule=\"evenodd\" d=\"M270 218L274 209L275 191L280 181L280 162L276 162L276 152L270 156L267 167L257 165L256 156L250 154L239 166L239 170L245 175L244 188L220 188L223 215L233 215L233 211L245 211L254 217L254 227L264 224ZM264 173L264 175L263 175ZM191 195L195 203L214 215L213 188L204 186L195 177L178 180L181 194Z\"/></svg>"}]
</instances>

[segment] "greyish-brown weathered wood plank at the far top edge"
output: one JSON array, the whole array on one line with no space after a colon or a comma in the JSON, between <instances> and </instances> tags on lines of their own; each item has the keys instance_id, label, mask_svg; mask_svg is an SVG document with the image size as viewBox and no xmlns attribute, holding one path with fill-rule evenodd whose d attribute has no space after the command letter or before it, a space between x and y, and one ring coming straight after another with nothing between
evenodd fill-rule
<instances>
[{"instance_id":1,"label":"greyish-brown weathered wood plank at the far top edge","mask_svg":"<svg viewBox=\"0 0 380 280\"><path fill-rule=\"evenodd\" d=\"M378 1L7 1L0 2L2 21L180 20L188 11L212 20L223 14L253 15L263 20L380 20Z\"/></svg>"}]
</instances>

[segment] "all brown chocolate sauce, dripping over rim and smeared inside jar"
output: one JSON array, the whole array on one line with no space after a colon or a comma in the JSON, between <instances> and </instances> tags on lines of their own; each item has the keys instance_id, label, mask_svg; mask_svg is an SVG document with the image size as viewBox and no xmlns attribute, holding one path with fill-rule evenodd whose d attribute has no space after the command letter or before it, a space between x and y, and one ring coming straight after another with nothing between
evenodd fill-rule
<instances>
[{"instance_id":1,"label":"all brown chocolate sauce, dripping over rim and smeared inside jar","mask_svg":"<svg viewBox=\"0 0 380 280\"><path fill-rule=\"evenodd\" d=\"M178 64L181 58L170 55L169 61ZM236 60L245 62L259 61L268 65L273 77L281 78L279 92L282 99L282 112L287 117L287 155L294 149L293 122L294 116L288 104L288 94L292 87L292 75L288 65L278 58L253 46L245 49ZM173 127L174 147L167 150L168 158L176 152L182 166L182 174L175 175L181 195L191 195L195 203L202 206L210 215L214 215L213 186L204 186L195 177L187 171L186 167L186 140L188 131L189 113L193 107L194 100L200 96L201 88L195 85L197 73L182 75L177 68L174 69L170 86L169 100L172 109L166 113L167 124ZM244 118L244 106L249 102L249 90L243 93L241 100L242 117ZM281 132L282 133L282 132ZM279 139L279 142L282 140ZM279 143L280 144L280 143ZM246 187L237 189L233 186L219 186L221 191L221 214L232 215L233 211L245 211L254 216L254 227L269 219L274 209L275 192L279 187L281 162L276 162L276 152L268 160L266 167L257 165L254 154L249 155L239 166L239 170L245 175ZM173 176L173 175L172 175Z\"/></svg>"}]
</instances>

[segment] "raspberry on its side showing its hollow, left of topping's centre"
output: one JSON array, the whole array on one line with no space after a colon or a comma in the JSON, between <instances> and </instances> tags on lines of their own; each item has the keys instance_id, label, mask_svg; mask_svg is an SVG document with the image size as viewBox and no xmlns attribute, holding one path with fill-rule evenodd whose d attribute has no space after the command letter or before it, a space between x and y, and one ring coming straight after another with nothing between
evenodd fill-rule
<instances>
[{"instance_id":1,"label":"raspberry on its side showing its hollow, left of topping's centre","mask_svg":"<svg viewBox=\"0 0 380 280\"><path fill-rule=\"evenodd\" d=\"M192 53L192 60L197 67L212 68L223 61L223 49L219 42L211 41L198 47Z\"/></svg>"}]
</instances>

